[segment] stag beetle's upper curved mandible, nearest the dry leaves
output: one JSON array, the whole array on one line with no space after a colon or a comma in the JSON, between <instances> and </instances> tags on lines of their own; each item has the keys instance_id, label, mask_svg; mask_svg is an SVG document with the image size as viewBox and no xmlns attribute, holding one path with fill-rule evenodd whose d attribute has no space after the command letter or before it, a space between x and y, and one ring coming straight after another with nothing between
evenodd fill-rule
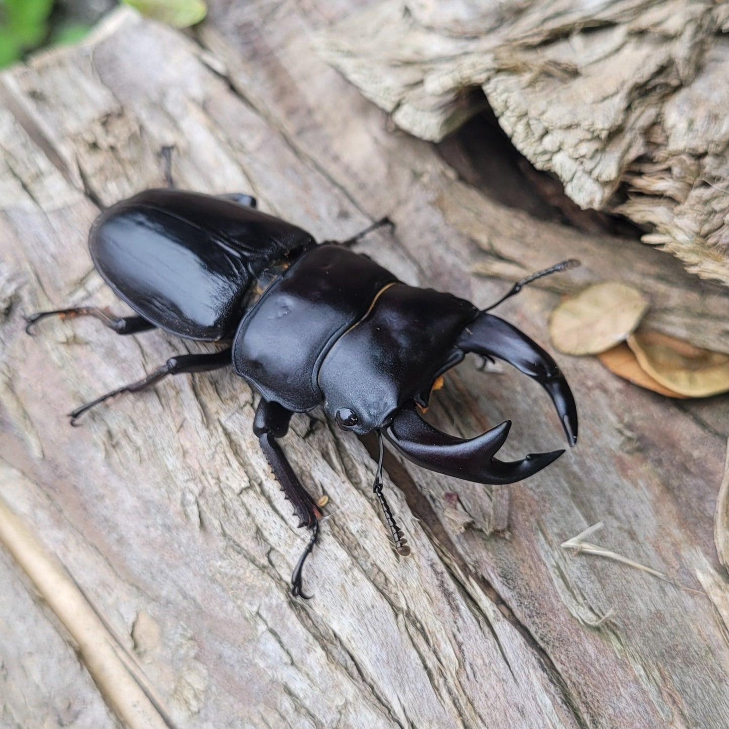
<instances>
[{"instance_id":1,"label":"stag beetle's upper curved mandible, nearest the dry leaves","mask_svg":"<svg viewBox=\"0 0 729 729\"><path fill-rule=\"evenodd\" d=\"M557 363L534 340L498 316L482 311L456 342L464 352L495 356L534 378L557 408L569 445L577 443L577 406Z\"/></svg>"}]
</instances>

